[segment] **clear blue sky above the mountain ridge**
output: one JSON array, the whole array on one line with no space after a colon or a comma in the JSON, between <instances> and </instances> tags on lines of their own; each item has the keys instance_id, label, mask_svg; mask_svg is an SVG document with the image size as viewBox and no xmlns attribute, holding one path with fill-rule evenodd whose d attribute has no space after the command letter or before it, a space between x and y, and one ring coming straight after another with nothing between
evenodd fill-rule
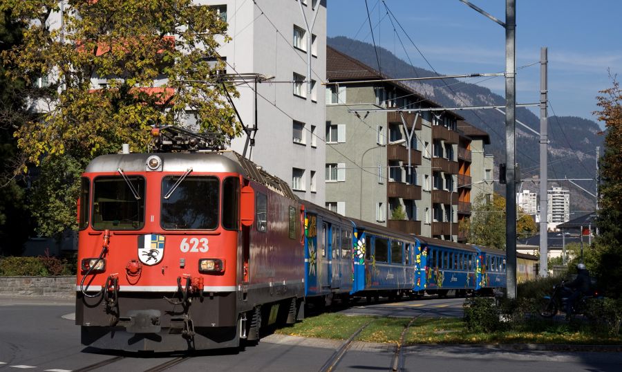
<instances>
[{"instance_id":1,"label":"clear blue sky above the mountain ridge","mask_svg":"<svg viewBox=\"0 0 622 372\"><path fill-rule=\"evenodd\" d=\"M367 0L376 44L430 70L422 55L386 15ZM471 0L505 21L504 0ZM458 0L386 0L399 24L436 71L446 75L505 71L505 30ZM598 91L610 87L607 72L622 74L621 0L516 0L516 66L538 62L549 48L549 115L596 120ZM328 36L372 42L365 0L328 0ZM402 39L406 52L397 37ZM540 65L517 71L519 103L538 102ZM482 80L482 79L479 79ZM477 83L478 80L466 80ZM482 82L505 95L503 77ZM552 112L554 111L554 113ZM536 111L538 113L538 111Z\"/></svg>"}]
</instances>

